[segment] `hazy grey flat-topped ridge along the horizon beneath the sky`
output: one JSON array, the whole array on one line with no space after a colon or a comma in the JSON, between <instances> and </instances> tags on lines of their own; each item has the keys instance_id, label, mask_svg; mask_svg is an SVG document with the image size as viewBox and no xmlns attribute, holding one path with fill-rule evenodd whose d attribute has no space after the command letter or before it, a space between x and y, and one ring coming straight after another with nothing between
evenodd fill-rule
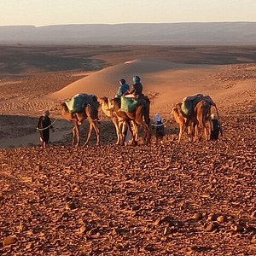
<instances>
[{"instance_id":1,"label":"hazy grey flat-topped ridge along the horizon beneath the sky","mask_svg":"<svg viewBox=\"0 0 256 256\"><path fill-rule=\"evenodd\" d=\"M0 44L255 45L256 22L0 26Z\"/></svg>"}]
</instances>

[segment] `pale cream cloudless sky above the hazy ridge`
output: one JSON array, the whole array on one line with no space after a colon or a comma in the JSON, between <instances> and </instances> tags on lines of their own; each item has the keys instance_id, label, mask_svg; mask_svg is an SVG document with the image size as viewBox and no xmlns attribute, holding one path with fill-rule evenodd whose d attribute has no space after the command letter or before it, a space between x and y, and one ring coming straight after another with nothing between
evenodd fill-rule
<instances>
[{"instance_id":1,"label":"pale cream cloudless sky above the hazy ridge","mask_svg":"<svg viewBox=\"0 0 256 256\"><path fill-rule=\"evenodd\" d=\"M0 26L256 21L256 0L0 0Z\"/></svg>"}]
</instances>

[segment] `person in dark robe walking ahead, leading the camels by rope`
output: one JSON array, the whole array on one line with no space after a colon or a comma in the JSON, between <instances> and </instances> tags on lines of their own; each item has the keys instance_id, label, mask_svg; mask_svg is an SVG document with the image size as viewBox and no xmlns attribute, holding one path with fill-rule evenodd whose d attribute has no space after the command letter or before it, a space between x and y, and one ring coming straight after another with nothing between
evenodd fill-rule
<instances>
[{"instance_id":1,"label":"person in dark robe walking ahead, leading the camels by rope","mask_svg":"<svg viewBox=\"0 0 256 256\"><path fill-rule=\"evenodd\" d=\"M49 129L54 132L54 128L49 119L49 110L45 110L43 115L39 118L37 127L37 130L40 132L40 142L42 148L46 148L47 144L49 143Z\"/></svg>"}]
</instances>

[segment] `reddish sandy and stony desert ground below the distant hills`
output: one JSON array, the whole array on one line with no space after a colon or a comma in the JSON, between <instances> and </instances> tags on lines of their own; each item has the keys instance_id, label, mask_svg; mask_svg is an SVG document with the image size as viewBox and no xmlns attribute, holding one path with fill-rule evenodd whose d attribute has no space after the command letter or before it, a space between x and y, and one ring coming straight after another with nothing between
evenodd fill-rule
<instances>
[{"instance_id":1,"label":"reddish sandy and stony desert ground below the distant hills","mask_svg":"<svg viewBox=\"0 0 256 256\"><path fill-rule=\"evenodd\" d=\"M0 255L255 255L256 48L0 46ZM164 143L73 148L60 103L143 79ZM217 103L224 137L177 144L172 107ZM38 117L55 133L39 147ZM88 130L85 122L82 140ZM153 128L153 127L152 127ZM218 218L219 217L219 218Z\"/></svg>"}]
</instances>

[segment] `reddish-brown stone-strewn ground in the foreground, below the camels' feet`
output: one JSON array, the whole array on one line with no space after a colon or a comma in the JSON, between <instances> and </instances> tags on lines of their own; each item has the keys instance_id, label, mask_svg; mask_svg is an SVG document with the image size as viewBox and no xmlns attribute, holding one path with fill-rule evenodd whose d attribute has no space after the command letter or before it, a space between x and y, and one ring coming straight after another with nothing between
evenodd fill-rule
<instances>
[{"instance_id":1,"label":"reddish-brown stone-strewn ground in the foreground, below the camels' feet","mask_svg":"<svg viewBox=\"0 0 256 256\"><path fill-rule=\"evenodd\" d=\"M255 113L218 143L1 149L1 255L255 255Z\"/></svg>"}]
</instances>

